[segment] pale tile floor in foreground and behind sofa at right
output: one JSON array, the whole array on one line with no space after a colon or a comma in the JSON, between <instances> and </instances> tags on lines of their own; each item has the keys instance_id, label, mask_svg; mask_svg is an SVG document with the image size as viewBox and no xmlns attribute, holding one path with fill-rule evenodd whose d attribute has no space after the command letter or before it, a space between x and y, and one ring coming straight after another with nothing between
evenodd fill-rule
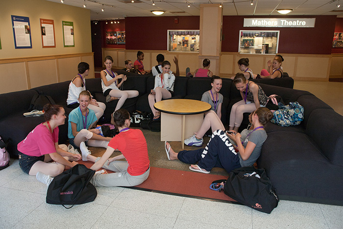
<instances>
[{"instance_id":1,"label":"pale tile floor in foreground and behind sofa at right","mask_svg":"<svg viewBox=\"0 0 343 229\"><path fill-rule=\"evenodd\" d=\"M308 90L338 113L342 107L343 83L295 82L294 88ZM327 92L330 91L330 96ZM334 105L333 105L334 104ZM291 228L342 229L343 206L280 201L271 214L238 204L227 204L133 190L122 187L97 188L92 203L71 209L46 204L47 186L22 172L18 160L0 171L0 228Z\"/></svg>"}]
</instances>

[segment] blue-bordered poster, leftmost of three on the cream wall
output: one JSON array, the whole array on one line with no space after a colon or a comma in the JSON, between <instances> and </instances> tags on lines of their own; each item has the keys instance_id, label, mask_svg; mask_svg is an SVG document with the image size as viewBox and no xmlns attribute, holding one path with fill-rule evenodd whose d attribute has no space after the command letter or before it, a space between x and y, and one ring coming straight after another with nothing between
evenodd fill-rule
<instances>
[{"instance_id":1,"label":"blue-bordered poster, leftmost of three on the cream wall","mask_svg":"<svg viewBox=\"0 0 343 229\"><path fill-rule=\"evenodd\" d=\"M32 49L31 28L28 17L11 15L14 46L16 49Z\"/></svg>"}]
</instances>

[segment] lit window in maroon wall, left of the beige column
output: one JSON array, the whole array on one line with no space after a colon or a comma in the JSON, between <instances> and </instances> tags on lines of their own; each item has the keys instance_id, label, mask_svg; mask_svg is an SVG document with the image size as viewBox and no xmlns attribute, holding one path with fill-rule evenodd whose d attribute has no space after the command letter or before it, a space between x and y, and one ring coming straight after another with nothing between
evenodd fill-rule
<instances>
[{"instance_id":1,"label":"lit window in maroon wall, left of the beige column","mask_svg":"<svg viewBox=\"0 0 343 229\"><path fill-rule=\"evenodd\" d=\"M168 30L168 51L199 52L199 30Z\"/></svg>"}]
</instances>

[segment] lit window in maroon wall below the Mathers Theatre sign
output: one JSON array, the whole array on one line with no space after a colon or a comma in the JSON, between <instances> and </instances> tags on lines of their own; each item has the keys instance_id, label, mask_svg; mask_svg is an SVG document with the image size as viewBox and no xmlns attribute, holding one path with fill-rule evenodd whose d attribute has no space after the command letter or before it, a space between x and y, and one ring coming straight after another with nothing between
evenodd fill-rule
<instances>
[{"instance_id":1,"label":"lit window in maroon wall below the Mathers Theatre sign","mask_svg":"<svg viewBox=\"0 0 343 229\"><path fill-rule=\"evenodd\" d=\"M239 53L276 54L279 30L240 30Z\"/></svg>"}]
</instances>

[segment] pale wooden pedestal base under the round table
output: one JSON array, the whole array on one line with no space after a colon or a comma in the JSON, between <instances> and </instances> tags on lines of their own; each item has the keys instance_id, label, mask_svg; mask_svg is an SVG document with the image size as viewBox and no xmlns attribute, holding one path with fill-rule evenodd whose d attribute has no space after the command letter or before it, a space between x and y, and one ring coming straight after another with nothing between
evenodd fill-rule
<instances>
[{"instance_id":1,"label":"pale wooden pedestal base under the round table","mask_svg":"<svg viewBox=\"0 0 343 229\"><path fill-rule=\"evenodd\" d=\"M181 141L197 131L204 119L204 114L179 115L161 112L161 141Z\"/></svg>"}]
</instances>

